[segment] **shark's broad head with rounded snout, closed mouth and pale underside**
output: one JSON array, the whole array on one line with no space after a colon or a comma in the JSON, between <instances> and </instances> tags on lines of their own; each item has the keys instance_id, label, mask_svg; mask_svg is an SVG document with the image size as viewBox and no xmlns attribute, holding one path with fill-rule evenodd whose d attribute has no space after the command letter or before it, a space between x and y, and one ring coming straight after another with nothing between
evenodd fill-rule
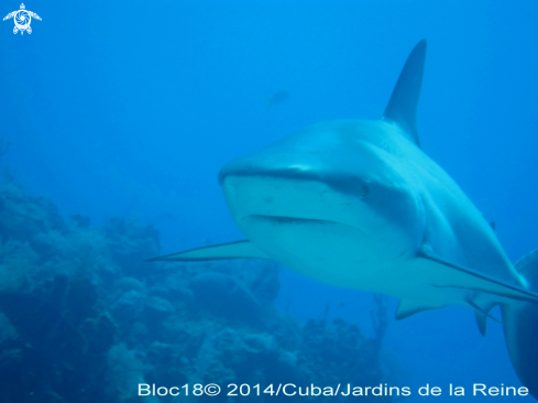
<instances>
[{"instance_id":1,"label":"shark's broad head with rounded snout, closed mouth and pale underside","mask_svg":"<svg viewBox=\"0 0 538 403\"><path fill-rule=\"evenodd\" d=\"M418 150L391 121L322 122L231 161L219 182L237 225L266 253L305 257L306 268L352 244L358 265L383 264L416 253L424 230L393 143Z\"/></svg>"}]
</instances>

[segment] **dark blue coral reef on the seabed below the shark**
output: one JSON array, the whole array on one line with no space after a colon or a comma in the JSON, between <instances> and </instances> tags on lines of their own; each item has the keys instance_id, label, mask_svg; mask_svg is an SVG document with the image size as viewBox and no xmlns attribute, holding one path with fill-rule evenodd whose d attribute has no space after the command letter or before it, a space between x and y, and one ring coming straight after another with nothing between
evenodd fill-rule
<instances>
[{"instance_id":1,"label":"dark blue coral reef on the seabed below the shark","mask_svg":"<svg viewBox=\"0 0 538 403\"><path fill-rule=\"evenodd\" d=\"M143 263L158 249L151 226L112 218L91 227L80 215L64 220L50 200L4 175L0 401L134 402L139 383L373 386L386 379L382 298L372 311L374 338L343 319L300 325L274 307L274 263ZM275 397L242 400L254 399Z\"/></svg>"}]
</instances>

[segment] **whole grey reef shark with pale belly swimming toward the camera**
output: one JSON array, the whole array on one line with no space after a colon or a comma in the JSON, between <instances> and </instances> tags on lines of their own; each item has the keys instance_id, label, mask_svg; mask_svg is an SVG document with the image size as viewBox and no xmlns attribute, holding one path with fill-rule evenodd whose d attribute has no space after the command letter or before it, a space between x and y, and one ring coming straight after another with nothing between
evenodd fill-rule
<instances>
[{"instance_id":1,"label":"whole grey reef shark with pale belly swimming toward the camera","mask_svg":"<svg viewBox=\"0 0 538 403\"><path fill-rule=\"evenodd\" d=\"M537 397L538 253L518 264L526 279L421 150L426 47L421 41L410 53L380 120L317 123L222 167L219 182L246 240L154 260L274 259L328 284L398 297L398 319L468 306L482 334L501 305L514 368Z\"/></svg>"}]
</instances>

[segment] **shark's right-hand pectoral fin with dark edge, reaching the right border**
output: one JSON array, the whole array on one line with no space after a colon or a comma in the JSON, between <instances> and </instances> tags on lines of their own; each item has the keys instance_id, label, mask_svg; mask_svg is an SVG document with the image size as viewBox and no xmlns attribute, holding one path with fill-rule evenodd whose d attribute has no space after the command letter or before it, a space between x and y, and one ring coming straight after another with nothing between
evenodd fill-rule
<instances>
[{"instance_id":1,"label":"shark's right-hand pectoral fin with dark edge, reaching the right border","mask_svg":"<svg viewBox=\"0 0 538 403\"><path fill-rule=\"evenodd\" d=\"M436 257L431 252L426 253L422 251L419 259L426 259L448 269L444 273L439 273L436 281L431 283L433 286L481 291L487 294L496 294L513 299L538 304L538 294L532 291L525 290L503 280L494 279L475 270L448 262Z\"/></svg>"}]
</instances>

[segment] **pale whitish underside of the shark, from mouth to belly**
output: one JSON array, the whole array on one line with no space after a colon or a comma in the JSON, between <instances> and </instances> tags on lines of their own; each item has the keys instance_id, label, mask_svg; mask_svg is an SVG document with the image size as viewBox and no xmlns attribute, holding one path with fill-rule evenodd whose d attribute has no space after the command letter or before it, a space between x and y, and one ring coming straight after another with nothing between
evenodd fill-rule
<instances>
[{"instance_id":1,"label":"pale whitish underside of the shark, from mouth to belly","mask_svg":"<svg viewBox=\"0 0 538 403\"><path fill-rule=\"evenodd\" d=\"M364 232L342 224L248 216L241 228L251 242L285 266L334 286L419 301L431 307L466 305L472 294L446 283L444 268L399 255L388 258Z\"/></svg>"}]
</instances>

